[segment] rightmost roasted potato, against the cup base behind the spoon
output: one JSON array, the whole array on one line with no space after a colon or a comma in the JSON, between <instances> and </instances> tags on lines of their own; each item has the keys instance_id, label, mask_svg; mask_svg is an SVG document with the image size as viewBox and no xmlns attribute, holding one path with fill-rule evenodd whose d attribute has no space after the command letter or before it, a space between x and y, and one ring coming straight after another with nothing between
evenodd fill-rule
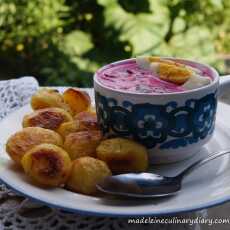
<instances>
[{"instance_id":1,"label":"rightmost roasted potato, against the cup base behind the spoon","mask_svg":"<svg viewBox=\"0 0 230 230\"><path fill-rule=\"evenodd\" d=\"M105 161L114 173L142 172L148 167L147 149L132 140L111 138L100 143L97 158Z\"/></svg>"}]
</instances>

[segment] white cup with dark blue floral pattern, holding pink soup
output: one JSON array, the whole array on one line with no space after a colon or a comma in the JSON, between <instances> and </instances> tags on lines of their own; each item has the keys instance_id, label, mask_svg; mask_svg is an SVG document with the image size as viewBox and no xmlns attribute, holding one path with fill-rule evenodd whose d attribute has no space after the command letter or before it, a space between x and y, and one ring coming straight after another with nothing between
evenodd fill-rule
<instances>
[{"instance_id":1,"label":"white cup with dark blue floral pattern, holding pink soup","mask_svg":"<svg viewBox=\"0 0 230 230\"><path fill-rule=\"evenodd\" d=\"M129 93L102 85L97 73L94 75L96 110L103 134L142 143L149 150L150 162L157 164L180 161L199 151L215 127L217 94L230 85L227 77L219 87L219 75L210 66L170 59L203 69L213 78L212 83L179 93Z\"/></svg>"}]
</instances>

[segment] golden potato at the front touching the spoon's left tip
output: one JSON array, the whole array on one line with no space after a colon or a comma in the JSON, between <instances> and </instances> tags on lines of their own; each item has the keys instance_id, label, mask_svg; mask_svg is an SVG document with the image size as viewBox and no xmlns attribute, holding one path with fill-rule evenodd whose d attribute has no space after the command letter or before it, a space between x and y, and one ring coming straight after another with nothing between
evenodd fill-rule
<instances>
[{"instance_id":1,"label":"golden potato at the front touching the spoon's left tip","mask_svg":"<svg viewBox=\"0 0 230 230\"><path fill-rule=\"evenodd\" d=\"M96 184L111 175L105 162L92 157L81 157L73 161L66 185L74 192L92 195L97 192Z\"/></svg>"}]
</instances>

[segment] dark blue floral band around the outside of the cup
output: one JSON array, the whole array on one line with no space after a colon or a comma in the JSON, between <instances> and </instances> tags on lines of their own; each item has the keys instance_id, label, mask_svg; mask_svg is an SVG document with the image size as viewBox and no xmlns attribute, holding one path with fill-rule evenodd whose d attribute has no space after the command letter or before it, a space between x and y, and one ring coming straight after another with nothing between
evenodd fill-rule
<instances>
[{"instance_id":1,"label":"dark blue floral band around the outside of the cup","mask_svg":"<svg viewBox=\"0 0 230 230\"><path fill-rule=\"evenodd\" d=\"M105 136L131 137L151 149L176 149L196 143L213 132L217 93L189 99L183 106L172 101L122 105L95 92L98 121Z\"/></svg>"}]
</instances>

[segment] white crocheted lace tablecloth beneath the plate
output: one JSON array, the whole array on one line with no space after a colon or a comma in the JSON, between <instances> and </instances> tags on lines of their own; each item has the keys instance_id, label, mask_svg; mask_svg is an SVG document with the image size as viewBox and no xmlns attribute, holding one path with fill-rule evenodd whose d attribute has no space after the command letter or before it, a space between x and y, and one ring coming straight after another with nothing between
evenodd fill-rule
<instances>
[{"instance_id":1,"label":"white crocheted lace tablecloth beneath the plate","mask_svg":"<svg viewBox=\"0 0 230 230\"><path fill-rule=\"evenodd\" d=\"M27 104L38 89L33 77L0 82L0 119ZM86 89L92 94L92 89ZM207 211L180 214L177 218L207 217ZM161 218L161 217L159 217ZM127 219L80 216L34 203L0 184L0 230L120 230L201 229L199 224L128 224ZM203 229L203 227L202 227ZM219 228L218 228L219 229Z\"/></svg>"}]
</instances>

